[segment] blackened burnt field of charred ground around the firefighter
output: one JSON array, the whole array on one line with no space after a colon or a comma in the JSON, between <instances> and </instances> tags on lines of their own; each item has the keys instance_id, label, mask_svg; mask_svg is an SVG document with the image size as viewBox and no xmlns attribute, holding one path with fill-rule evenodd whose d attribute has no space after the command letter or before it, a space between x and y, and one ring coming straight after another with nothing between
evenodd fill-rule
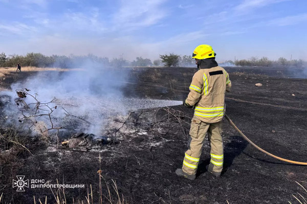
<instances>
[{"instance_id":1,"label":"blackened burnt field of charred ground around the firefighter","mask_svg":"<svg viewBox=\"0 0 307 204\"><path fill-rule=\"evenodd\" d=\"M195 71L193 68L127 69L118 81L108 78L105 83L120 82L121 97L144 101L185 99ZM293 77L287 75L291 71L268 69L226 68L232 81L232 91L226 95L226 113L261 148L282 158L307 162L307 79L288 79ZM8 88L15 81L26 82L35 74L20 72L18 77L7 76L2 87ZM257 87L256 83L262 86ZM33 196L36 203L38 199L45 202L45 196L47 203L73 203L73 200L92 203L92 196L93 203L99 203L100 199L103 203L299 203L298 199L303 203L307 200L304 190L307 166L284 163L263 154L240 137L226 119L222 177L216 179L205 170L210 161L210 147L205 141L198 177L189 181L174 172L182 166L193 116L191 109L158 106L111 114L104 122L101 136L91 138L91 132L73 130L60 130L58 137L55 132L30 135L7 125L3 111L6 104L2 100L0 105L2 203L34 203ZM67 143L61 144L65 140ZM16 192L12 188L16 175L24 175L30 182L84 184L84 188L65 188L63 192L31 188L30 183L24 192ZM57 196L60 201L56 201Z\"/></svg>"}]
</instances>

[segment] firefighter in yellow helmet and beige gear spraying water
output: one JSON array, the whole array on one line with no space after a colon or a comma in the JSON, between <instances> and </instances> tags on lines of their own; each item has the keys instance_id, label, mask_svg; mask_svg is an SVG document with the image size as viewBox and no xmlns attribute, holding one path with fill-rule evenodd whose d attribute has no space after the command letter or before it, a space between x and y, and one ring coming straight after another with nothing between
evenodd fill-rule
<instances>
[{"instance_id":1,"label":"firefighter in yellow helmet and beige gear spraying water","mask_svg":"<svg viewBox=\"0 0 307 204\"><path fill-rule=\"evenodd\" d=\"M221 176L223 169L222 120L226 111L225 92L230 91L231 82L227 71L217 65L215 55L212 47L205 44L196 47L192 54L199 70L193 75L190 93L183 105L194 108L194 116L188 150L182 168L176 170L177 175L189 180L196 177L206 133L211 146L211 160L206 169L216 177Z\"/></svg>"}]
</instances>

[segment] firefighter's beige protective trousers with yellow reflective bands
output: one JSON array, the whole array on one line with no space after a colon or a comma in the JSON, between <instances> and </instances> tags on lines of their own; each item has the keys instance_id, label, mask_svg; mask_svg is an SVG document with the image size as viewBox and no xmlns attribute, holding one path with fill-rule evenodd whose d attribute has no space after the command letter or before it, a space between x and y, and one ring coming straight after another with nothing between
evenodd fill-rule
<instances>
[{"instance_id":1,"label":"firefighter's beige protective trousers with yellow reflective bands","mask_svg":"<svg viewBox=\"0 0 307 204\"><path fill-rule=\"evenodd\" d=\"M195 116L192 118L190 136L190 148L185 152L182 170L188 174L195 174L200 157L202 154L202 147L208 133L208 139L211 146L211 160L210 165L213 165L213 171L221 172L223 169L224 152L222 141L222 126L223 121L216 123L203 122Z\"/></svg>"}]
</instances>

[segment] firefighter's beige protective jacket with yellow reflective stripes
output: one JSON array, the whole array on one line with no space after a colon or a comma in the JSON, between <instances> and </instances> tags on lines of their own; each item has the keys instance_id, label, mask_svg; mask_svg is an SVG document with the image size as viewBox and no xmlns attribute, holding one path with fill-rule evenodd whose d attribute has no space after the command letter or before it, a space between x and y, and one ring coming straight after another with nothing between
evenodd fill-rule
<instances>
[{"instance_id":1,"label":"firefighter's beige protective jacket with yellow reflective stripes","mask_svg":"<svg viewBox=\"0 0 307 204\"><path fill-rule=\"evenodd\" d=\"M186 103L195 106L194 117L208 123L219 122L225 115L225 92L230 88L231 81L223 67L200 69L193 76Z\"/></svg>"}]
</instances>

